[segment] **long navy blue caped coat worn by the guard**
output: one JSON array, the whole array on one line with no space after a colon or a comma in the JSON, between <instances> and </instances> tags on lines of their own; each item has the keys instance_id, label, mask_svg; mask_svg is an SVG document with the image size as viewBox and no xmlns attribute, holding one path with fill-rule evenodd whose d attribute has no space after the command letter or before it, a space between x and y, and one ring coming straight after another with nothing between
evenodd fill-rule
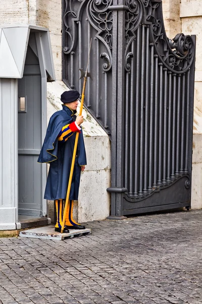
<instances>
[{"instance_id":1,"label":"long navy blue caped coat worn by the guard","mask_svg":"<svg viewBox=\"0 0 202 304\"><path fill-rule=\"evenodd\" d=\"M66 199L76 132L70 136L66 142L58 141L58 135L65 125L75 121L75 113L76 112L73 112L70 108L63 105L63 109L55 112L49 121L44 143L38 158L39 163L50 164L44 194L44 199L46 200ZM81 175L80 166L86 165L82 130L79 134L76 155L70 200L78 200Z\"/></svg>"}]
</instances>

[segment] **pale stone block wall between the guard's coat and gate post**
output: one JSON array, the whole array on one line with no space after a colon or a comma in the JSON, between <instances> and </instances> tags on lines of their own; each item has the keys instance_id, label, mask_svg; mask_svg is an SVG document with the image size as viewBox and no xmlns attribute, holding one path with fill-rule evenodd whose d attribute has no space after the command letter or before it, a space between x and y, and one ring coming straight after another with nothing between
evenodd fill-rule
<instances>
[{"instance_id":1,"label":"pale stone block wall between the guard's coat and gate post","mask_svg":"<svg viewBox=\"0 0 202 304\"><path fill-rule=\"evenodd\" d=\"M85 123L83 124L85 127ZM110 213L111 182L110 141L104 134L84 138L87 166L81 173L78 199L78 221L105 219Z\"/></svg>"}]
</instances>

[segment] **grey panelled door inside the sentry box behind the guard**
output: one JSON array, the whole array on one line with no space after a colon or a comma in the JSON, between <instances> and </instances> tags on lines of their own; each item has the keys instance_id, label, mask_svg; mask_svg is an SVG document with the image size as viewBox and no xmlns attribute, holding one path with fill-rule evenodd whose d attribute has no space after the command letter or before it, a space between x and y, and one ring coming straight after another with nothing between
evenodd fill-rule
<instances>
[{"instance_id":1,"label":"grey panelled door inside the sentry box behind the guard","mask_svg":"<svg viewBox=\"0 0 202 304\"><path fill-rule=\"evenodd\" d=\"M28 46L23 78L18 85L19 214L42 216L41 74L38 58Z\"/></svg>"}]
</instances>

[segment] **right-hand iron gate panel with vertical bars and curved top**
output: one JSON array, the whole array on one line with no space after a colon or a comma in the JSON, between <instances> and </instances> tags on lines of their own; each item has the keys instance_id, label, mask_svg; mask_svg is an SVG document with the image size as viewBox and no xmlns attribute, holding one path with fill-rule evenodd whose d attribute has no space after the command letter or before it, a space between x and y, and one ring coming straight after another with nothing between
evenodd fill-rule
<instances>
[{"instance_id":1,"label":"right-hand iron gate panel with vertical bars and curved top","mask_svg":"<svg viewBox=\"0 0 202 304\"><path fill-rule=\"evenodd\" d=\"M144 22L125 53L125 192L119 214L190 208L195 37L178 34L169 41L161 2L146 1L144 8Z\"/></svg>"}]
</instances>

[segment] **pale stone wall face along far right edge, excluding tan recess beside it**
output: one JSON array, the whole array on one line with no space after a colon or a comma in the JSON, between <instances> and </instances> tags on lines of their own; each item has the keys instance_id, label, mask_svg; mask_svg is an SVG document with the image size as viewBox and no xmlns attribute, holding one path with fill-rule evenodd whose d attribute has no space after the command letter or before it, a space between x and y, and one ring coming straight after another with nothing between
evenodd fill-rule
<instances>
[{"instance_id":1,"label":"pale stone wall face along far right edge, excluding tan recess beside it","mask_svg":"<svg viewBox=\"0 0 202 304\"><path fill-rule=\"evenodd\" d=\"M181 0L182 32L196 35L193 122L192 208L202 208L202 1Z\"/></svg>"}]
</instances>

